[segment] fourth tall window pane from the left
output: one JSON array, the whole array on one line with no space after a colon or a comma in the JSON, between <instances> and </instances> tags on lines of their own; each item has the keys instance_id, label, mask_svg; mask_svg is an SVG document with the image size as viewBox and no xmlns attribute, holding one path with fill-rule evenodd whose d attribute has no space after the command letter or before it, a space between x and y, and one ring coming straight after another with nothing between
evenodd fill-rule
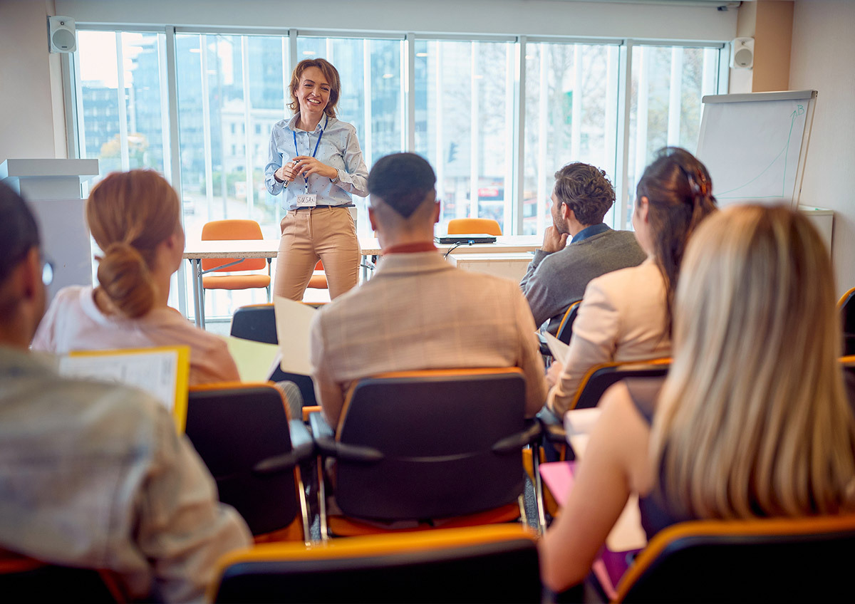
<instances>
[{"instance_id":1,"label":"fourth tall window pane from the left","mask_svg":"<svg viewBox=\"0 0 855 604\"><path fill-rule=\"evenodd\" d=\"M513 44L416 41L416 153L437 173L439 230L492 218L508 231Z\"/></svg>"}]
</instances>

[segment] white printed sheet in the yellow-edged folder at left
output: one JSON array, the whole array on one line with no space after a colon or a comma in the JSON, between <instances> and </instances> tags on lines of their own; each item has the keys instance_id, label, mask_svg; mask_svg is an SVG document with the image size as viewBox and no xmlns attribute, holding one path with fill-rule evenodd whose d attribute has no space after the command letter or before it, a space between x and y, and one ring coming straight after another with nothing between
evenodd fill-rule
<instances>
[{"instance_id":1,"label":"white printed sheet in the yellow-edged folder at left","mask_svg":"<svg viewBox=\"0 0 855 604\"><path fill-rule=\"evenodd\" d=\"M145 390L171 412L175 406L178 353L173 350L121 355L63 356L59 372L74 378L92 378Z\"/></svg>"}]
</instances>

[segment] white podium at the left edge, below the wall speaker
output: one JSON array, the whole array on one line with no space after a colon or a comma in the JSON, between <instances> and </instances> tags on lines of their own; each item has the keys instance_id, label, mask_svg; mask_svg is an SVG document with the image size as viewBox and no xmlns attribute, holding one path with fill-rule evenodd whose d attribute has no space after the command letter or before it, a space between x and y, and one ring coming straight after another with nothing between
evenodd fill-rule
<instances>
[{"instance_id":1,"label":"white podium at the left edge, below the wall speaker","mask_svg":"<svg viewBox=\"0 0 855 604\"><path fill-rule=\"evenodd\" d=\"M67 285L92 283L92 249L80 183L97 173L97 160L6 160L0 164L0 180L29 202L44 255L53 262L48 302Z\"/></svg>"}]
</instances>

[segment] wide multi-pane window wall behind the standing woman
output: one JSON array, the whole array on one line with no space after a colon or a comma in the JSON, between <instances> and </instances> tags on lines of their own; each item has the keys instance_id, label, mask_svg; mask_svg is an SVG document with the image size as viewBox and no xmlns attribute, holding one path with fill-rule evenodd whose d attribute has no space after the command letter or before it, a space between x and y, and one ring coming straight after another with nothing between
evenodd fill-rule
<instances>
[{"instance_id":1,"label":"wide multi-pane window wall behind the standing woman","mask_svg":"<svg viewBox=\"0 0 855 604\"><path fill-rule=\"evenodd\" d=\"M268 194L263 169L271 127L292 115L288 85L304 58L339 69L339 118L356 127L369 168L404 150L431 162L439 231L472 216L498 220L506 234L541 234L553 174L569 161L608 174L619 196L606 221L628 227L646 164L666 144L695 150L701 98L724 84L723 44L81 27L78 46L80 157L96 157L101 176L164 173L181 193L191 240L223 218L251 218L265 237L279 236L281 198ZM358 232L369 235L366 202L354 202ZM261 294L235 296L209 295L207 314L230 314Z\"/></svg>"}]
</instances>

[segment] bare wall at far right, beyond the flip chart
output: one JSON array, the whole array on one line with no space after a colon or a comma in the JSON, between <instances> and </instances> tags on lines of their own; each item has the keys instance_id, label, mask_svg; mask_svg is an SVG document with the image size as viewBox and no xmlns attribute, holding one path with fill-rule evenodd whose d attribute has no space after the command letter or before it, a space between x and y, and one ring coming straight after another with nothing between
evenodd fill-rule
<instances>
[{"instance_id":1,"label":"bare wall at far right, beyond the flip chart","mask_svg":"<svg viewBox=\"0 0 855 604\"><path fill-rule=\"evenodd\" d=\"M834 209L837 289L855 286L855 3L796 0L790 89L817 91L800 201Z\"/></svg>"}]
</instances>

